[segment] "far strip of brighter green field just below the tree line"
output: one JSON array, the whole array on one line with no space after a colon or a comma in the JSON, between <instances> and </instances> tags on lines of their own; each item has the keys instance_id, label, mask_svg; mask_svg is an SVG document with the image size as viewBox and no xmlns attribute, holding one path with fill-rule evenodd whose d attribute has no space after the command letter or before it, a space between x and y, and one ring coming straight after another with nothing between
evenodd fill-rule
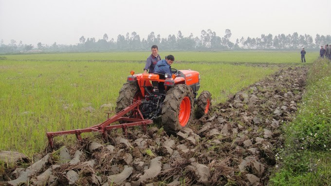
<instances>
[{"instance_id":1,"label":"far strip of brighter green field just below the tree line","mask_svg":"<svg viewBox=\"0 0 331 186\"><path fill-rule=\"evenodd\" d=\"M257 64L300 64L298 52L159 52L161 58L172 54L176 61L182 62L222 62L222 63L257 63ZM61 54L24 54L6 55L12 60L71 60L71 61L135 61L146 62L150 52L108 52L108 53L61 53ZM307 52L307 63L312 63L319 55ZM175 64L175 63L174 63Z\"/></svg>"}]
</instances>

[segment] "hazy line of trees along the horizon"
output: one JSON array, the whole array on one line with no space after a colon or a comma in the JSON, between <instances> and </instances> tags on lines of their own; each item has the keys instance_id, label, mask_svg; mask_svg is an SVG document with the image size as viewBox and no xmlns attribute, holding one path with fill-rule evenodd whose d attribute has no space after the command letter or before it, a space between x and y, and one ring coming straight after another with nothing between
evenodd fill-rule
<instances>
[{"instance_id":1,"label":"hazy line of trees along the horizon","mask_svg":"<svg viewBox=\"0 0 331 186\"><path fill-rule=\"evenodd\" d=\"M331 44L331 36L323 36L316 34L313 39L310 35L298 35L294 32L292 35L272 34L261 37L241 37L237 38L236 42L230 41L232 33L230 29L225 30L224 36L217 36L215 32L208 29L202 30L200 37L194 37L191 33L188 37L184 37L181 31L178 31L177 36L169 35L162 38L159 34L155 35L151 32L147 39L140 38L136 32L127 33L126 36L118 35L116 39L109 39L107 34L102 38L94 37L85 38L81 36L79 43L76 45L63 45L54 42L52 45L45 45L41 42L37 46L32 44L23 44L22 41L17 43L12 39L9 44L4 44L3 39L0 40L0 53L18 53L18 52L105 52L105 51L146 51L154 44L158 45L163 51L236 51L236 50L297 50L302 47L306 49L317 50L320 46Z\"/></svg>"}]
</instances>

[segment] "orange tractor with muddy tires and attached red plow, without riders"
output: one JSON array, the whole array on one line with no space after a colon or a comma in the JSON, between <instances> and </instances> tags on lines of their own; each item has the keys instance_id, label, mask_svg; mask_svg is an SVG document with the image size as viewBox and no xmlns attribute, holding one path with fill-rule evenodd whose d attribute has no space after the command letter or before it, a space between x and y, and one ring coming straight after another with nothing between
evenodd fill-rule
<instances>
[{"instance_id":1,"label":"orange tractor with muddy tires and attached red plow, without riders","mask_svg":"<svg viewBox=\"0 0 331 186\"><path fill-rule=\"evenodd\" d=\"M146 126L153 119L161 117L161 123L167 132L176 132L185 127L195 115L201 118L209 111L211 93L200 89L200 74L197 71L171 69L171 77L167 74L134 74L128 76L127 83L119 91L116 100L116 114L105 122L78 130L47 132L50 147L53 149L53 138L59 135L75 134L79 141L84 132L102 133L105 141L113 129ZM112 125L118 122L119 124Z\"/></svg>"}]
</instances>

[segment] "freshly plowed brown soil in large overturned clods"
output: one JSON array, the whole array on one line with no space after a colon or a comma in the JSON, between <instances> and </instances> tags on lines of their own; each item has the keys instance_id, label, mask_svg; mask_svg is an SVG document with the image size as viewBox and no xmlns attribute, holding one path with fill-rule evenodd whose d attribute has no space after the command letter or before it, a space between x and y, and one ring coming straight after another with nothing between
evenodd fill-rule
<instances>
[{"instance_id":1,"label":"freshly plowed brown soil in large overturned clods","mask_svg":"<svg viewBox=\"0 0 331 186\"><path fill-rule=\"evenodd\" d=\"M282 121L292 120L307 71L292 67L268 76L177 136L153 127L147 134L129 130L128 138L112 134L109 144L64 147L3 175L0 185L267 185L283 144Z\"/></svg>"}]
</instances>

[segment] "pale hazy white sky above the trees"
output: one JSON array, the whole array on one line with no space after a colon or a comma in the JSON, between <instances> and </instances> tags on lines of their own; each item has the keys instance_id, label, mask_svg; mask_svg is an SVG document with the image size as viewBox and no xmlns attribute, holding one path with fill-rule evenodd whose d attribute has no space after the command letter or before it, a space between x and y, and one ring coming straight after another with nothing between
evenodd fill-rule
<instances>
[{"instance_id":1,"label":"pale hazy white sky above the trees","mask_svg":"<svg viewBox=\"0 0 331 186\"><path fill-rule=\"evenodd\" d=\"M269 33L331 35L331 0L0 0L0 40L23 44L76 44L84 36L116 41L136 32L147 39L200 37L211 29L237 38Z\"/></svg>"}]
</instances>

